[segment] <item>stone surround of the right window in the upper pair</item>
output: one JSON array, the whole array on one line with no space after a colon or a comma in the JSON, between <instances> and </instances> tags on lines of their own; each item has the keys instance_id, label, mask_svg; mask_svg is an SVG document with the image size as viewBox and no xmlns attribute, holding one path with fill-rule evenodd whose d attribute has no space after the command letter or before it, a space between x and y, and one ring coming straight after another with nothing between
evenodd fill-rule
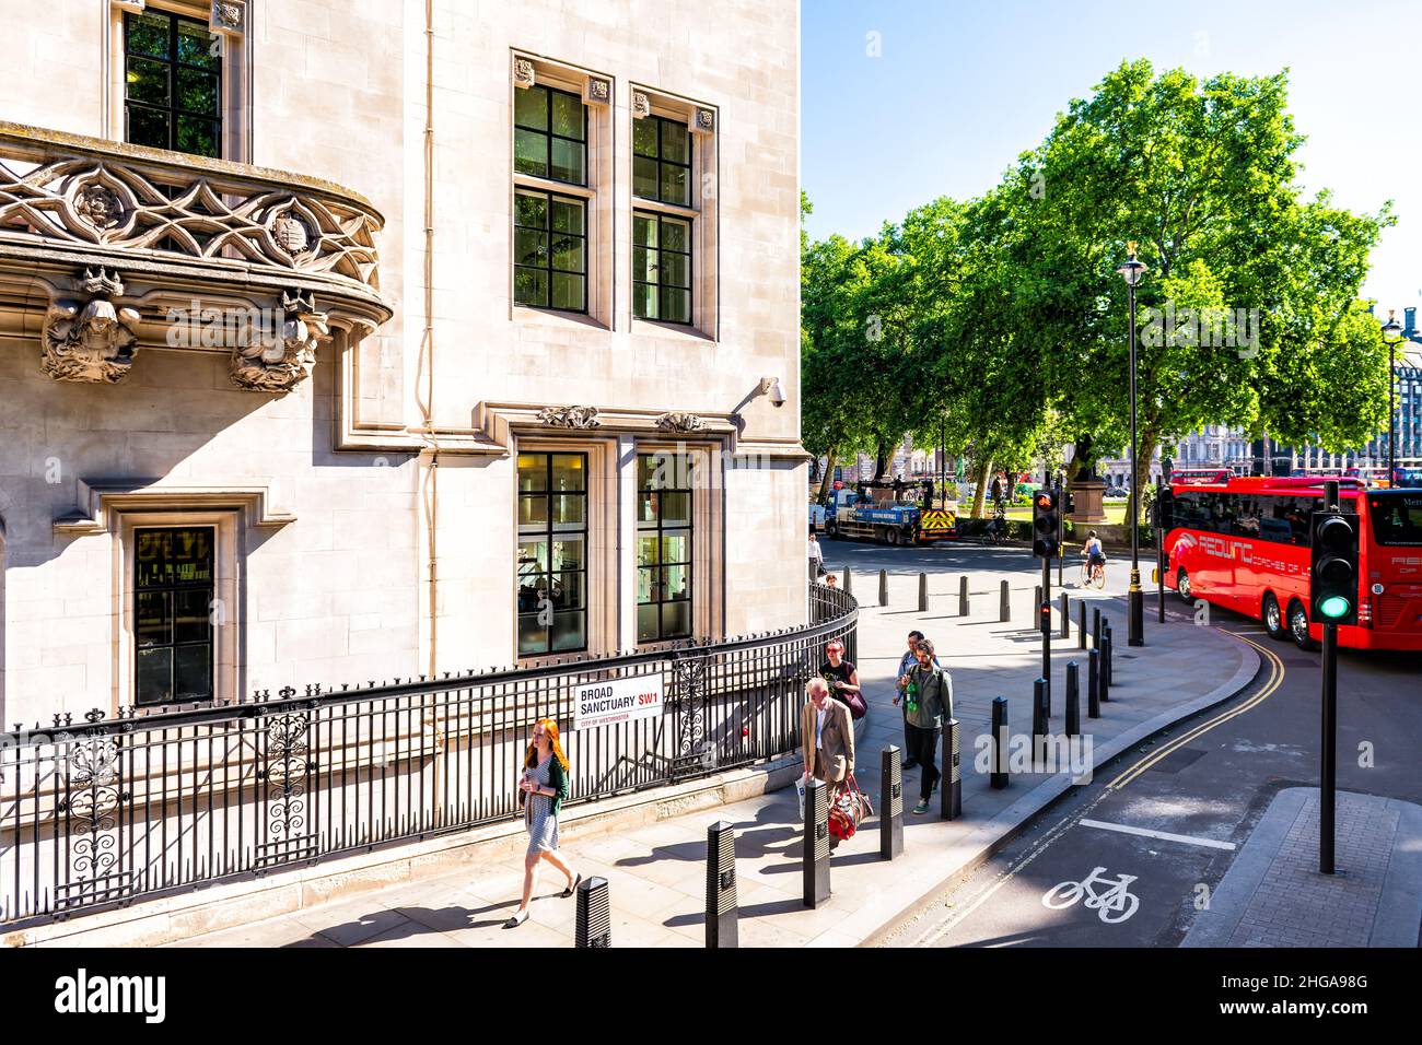
<instances>
[{"instance_id":1,"label":"stone surround of the right window in the upper pair","mask_svg":"<svg viewBox=\"0 0 1422 1045\"><path fill-rule=\"evenodd\" d=\"M720 183L720 111L714 105L683 98L667 91L658 91L641 84L629 85L627 114L631 119L638 117L633 112L633 95L646 95L650 115L664 117L687 124L694 122L697 109L710 109L714 114L717 129L705 134L691 131L691 206L677 203L663 203L661 200L643 199L631 195L631 127L627 128L627 213L626 213L626 243L627 257L631 257L631 212L650 210L687 218L691 220L691 326L681 323L663 323L660 320L643 320L633 316L631 277L627 279L626 307L619 306L619 316L626 316L633 331L656 334L681 334L697 337L698 340L720 340L720 193L715 186ZM708 189L711 189L708 192Z\"/></svg>"}]
</instances>

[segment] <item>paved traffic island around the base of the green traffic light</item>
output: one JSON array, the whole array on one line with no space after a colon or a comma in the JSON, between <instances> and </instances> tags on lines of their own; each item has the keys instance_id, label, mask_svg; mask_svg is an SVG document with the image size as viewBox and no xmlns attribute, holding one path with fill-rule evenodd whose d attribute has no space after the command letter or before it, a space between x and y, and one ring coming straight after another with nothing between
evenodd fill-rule
<instances>
[{"instance_id":1,"label":"paved traffic island around the base of the green traffic light","mask_svg":"<svg viewBox=\"0 0 1422 1045\"><path fill-rule=\"evenodd\" d=\"M1422 806L1341 792L1318 873L1318 789L1274 796L1182 947L1416 947Z\"/></svg>"}]
</instances>

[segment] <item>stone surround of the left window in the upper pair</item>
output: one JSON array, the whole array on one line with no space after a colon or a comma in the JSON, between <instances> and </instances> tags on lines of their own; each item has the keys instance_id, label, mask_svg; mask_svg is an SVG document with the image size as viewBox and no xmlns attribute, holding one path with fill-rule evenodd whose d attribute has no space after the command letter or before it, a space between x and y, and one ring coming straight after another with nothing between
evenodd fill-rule
<instances>
[{"instance_id":1,"label":"stone surround of the left window in the upper pair","mask_svg":"<svg viewBox=\"0 0 1422 1045\"><path fill-rule=\"evenodd\" d=\"M560 91L570 91L584 100L587 109L587 185L569 185L552 178L536 178L519 173L513 169L513 91L526 90L519 87L516 80L516 65L520 61L533 64L533 82L536 85L552 87ZM565 63L555 63L526 51L510 51L509 54L509 132L508 132L508 166L512 173L509 182L509 210L505 227L509 237L508 259L508 300L509 318L519 323L560 326L574 323L592 326L602 330L613 327L613 272L616 259L613 256L613 198L616 181L613 173L613 108L587 101L589 78L611 81L611 77L593 70L579 68ZM616 81L613 91L616 92ZM516 304L513 300L513 198L519 188L539 192L556 192L565 196L577 196L587 202L587 233L586 247L586 313L559 311L555 309L533 309Z\"/></svg>"}]
</instances>

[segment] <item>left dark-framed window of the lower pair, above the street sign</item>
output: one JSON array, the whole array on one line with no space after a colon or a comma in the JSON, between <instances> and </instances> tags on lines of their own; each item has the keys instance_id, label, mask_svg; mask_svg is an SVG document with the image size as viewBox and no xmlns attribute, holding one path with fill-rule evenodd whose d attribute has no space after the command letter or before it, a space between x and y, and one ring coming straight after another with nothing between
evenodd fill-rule
<instances>
[{"instance_id":1,"label":"left dark-framed window of the lower pair, above the street sign","mask_svg":"<svg viewBox=\"0 0 1422 1045\"><path fill-rule=\"evenodd\" d=\"M519 655L587 648L587 455L525 454L519 473Z\"/></svg>"}]
</instances>

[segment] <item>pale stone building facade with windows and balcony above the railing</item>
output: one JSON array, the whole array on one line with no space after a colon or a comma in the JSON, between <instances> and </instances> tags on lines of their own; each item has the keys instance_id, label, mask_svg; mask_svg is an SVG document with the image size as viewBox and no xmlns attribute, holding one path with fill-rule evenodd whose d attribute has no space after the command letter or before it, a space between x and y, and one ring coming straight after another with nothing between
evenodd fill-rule
<instances>
[{"instance_id":1,"label":"pale stone building facade with windows and balcony above the railing","mask_svg":"<svg viewBox=\"0 0 1422 1045\"><path fill-rule=\"evenodd\" d=\"M795 3L3 7L6 728L805 621Z\"/></svg>"}]
</instances>

